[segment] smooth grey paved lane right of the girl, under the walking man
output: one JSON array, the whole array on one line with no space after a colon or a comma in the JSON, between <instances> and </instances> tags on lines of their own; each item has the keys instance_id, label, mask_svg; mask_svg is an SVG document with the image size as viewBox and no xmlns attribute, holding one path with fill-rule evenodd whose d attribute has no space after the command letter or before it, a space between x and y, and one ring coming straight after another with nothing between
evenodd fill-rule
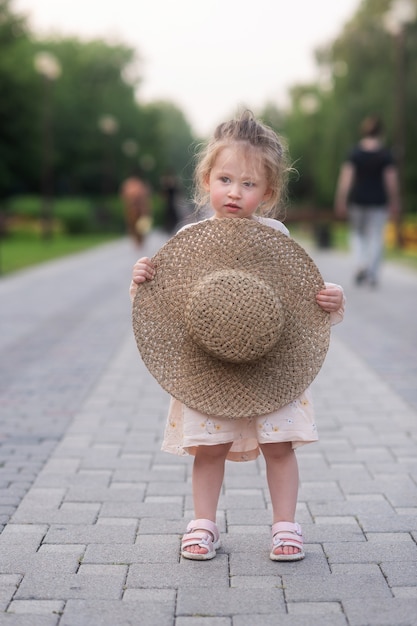
<instances>
[{"instance_id":1,"label":"smooth grey paved lane right of the girl, under the walking man","mask_svg":"<svg viewBox=\"0 0 417 626\"><path fill-rule=\"evenodd\" d=\"M383 266L378 289L357 287L346 253L312 250L325 278L340 282L346 318L334 332L406 402L417 408L417 271Z\"/></svg>"}]
</instances>

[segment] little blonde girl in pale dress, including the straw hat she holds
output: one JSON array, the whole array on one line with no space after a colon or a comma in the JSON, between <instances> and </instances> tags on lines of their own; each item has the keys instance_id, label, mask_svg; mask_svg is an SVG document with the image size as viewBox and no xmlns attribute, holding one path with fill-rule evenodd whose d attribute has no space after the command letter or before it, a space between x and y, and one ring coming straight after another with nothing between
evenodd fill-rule
<instances>
[{"instance_id":1,"label":"little blonde girl in pale dress, including the straw hat she holds","mask_svg":"<svg viewBox=\"0 0 417 626\"><path fill-rule=\"evenodd\" d=\"M197 202L209 202L212 217L133 268L138 347L171 394L162 449L194 456L186 559L212 559L220 546L225 461L260 453L272 502L269 556L304 558L295 450L318 439L310 384L344 296L266 217L280 205L287 172L281 138L250 112L221 124L195 172Z\"/></svg>"}]
</instances>

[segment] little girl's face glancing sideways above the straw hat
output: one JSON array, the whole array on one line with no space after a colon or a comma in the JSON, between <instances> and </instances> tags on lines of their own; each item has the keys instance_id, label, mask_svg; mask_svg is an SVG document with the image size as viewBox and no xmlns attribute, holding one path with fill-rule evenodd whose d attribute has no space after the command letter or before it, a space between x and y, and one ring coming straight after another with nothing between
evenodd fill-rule
<instances>
[{"instance_id":1,"label":"little girl's face glancing sideways above the straw hat","mask_svg":"<svg viewBox=\"0 0 417 626\"><path fill-rule=\"evenodd\" d=\"M263 166L256 154L231 146L223 148L211 169L205 189L214 216L251 218L271 195Z\"/></svg>"}]
</instances>

